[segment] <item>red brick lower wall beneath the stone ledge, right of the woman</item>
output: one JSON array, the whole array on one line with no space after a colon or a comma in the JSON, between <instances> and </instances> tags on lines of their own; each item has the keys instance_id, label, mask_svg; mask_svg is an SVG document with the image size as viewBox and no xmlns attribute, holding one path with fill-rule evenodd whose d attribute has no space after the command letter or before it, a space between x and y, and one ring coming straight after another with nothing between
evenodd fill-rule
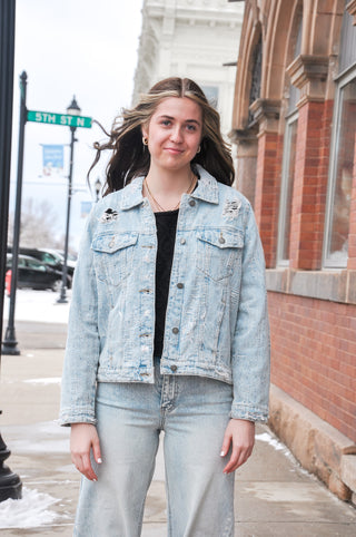
<instances>
[{"instance_id":1,"label":"red brick lower wall beneath the stone ledge, right of the woman","mask_svg":"<svg viewBox=\"0 0 356 537\"><path fill-rule=\"evenodd\" d=\"M356 306L268 293L271 381L356 442Z\"/></svg>"}]
</instances>

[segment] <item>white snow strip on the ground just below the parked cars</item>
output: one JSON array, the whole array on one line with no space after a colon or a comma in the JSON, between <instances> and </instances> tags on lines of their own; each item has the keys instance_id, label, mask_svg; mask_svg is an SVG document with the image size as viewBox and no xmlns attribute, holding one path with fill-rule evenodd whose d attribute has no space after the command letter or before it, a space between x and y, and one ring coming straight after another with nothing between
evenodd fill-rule
<instances>
[{"instance_id":1,"label":"white snow strip on the ground just below the parked cars","mask_svg":"<svg viewBox=\"0 0 356 537\"><path fill-rule=\"evenodd\" d=\"M68 302L59 304L59 293L53 291L33 291L19 289L16 293L14 321L33 321L43 323L68 322L71 291L67 291ZM4 299L3 318L9 318L10 299Z\"/></svg>"}]
</instances>

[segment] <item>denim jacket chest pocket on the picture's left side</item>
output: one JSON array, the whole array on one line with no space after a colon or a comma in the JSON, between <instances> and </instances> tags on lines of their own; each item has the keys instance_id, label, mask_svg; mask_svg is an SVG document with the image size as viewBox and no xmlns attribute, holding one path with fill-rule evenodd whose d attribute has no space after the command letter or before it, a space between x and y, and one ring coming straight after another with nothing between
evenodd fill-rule
<instances>
[{"instance_id":1,"label":"denim jacket chest pocket on the picture's left side","mask_svg":"<svg viewBox=\"0 0 356 537\"><path fill-rule=\"evenodd\" d=\"M138 233L98 235L91 244L98 279L119 285L132 271Z\"/></svg>"}]
</instances>

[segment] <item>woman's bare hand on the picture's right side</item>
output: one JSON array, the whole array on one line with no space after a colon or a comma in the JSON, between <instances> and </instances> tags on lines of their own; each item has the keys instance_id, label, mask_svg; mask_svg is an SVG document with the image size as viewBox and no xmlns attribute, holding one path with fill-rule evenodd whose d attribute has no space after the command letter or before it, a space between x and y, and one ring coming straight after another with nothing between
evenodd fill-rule
<instances>
[{"instance_id":1,"label":"woman's bare hand on the picture's right side","mask_svg":"<svg viewBox=\"0 0 356 537\"><path fill-rule=\"evenodd\" d=\"M231 419L226 428L220 456L225 457L231 448L231 457L224 473L235 471L247 461L251 455L255 443L255 423L247 420Z\"/></svg>"}]
</instances>

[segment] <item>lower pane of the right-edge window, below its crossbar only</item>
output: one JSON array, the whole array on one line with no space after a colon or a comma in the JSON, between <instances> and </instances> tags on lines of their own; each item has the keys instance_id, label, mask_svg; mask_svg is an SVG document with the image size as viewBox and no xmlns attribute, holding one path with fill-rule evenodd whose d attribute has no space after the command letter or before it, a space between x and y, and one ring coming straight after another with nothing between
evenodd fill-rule
<instances>
[{"instance_id":1,"label":"lower pane of the right-edge window, below its crossbar only","mask_svg":"<svg viewBox=\"0 0 356 537\"><path fill-rule=\"evenodd\" d=\"M348 253L356 126L356 72L343 77L335 101L324 265L345 267Z\"/></svg>"}]
</instances>

